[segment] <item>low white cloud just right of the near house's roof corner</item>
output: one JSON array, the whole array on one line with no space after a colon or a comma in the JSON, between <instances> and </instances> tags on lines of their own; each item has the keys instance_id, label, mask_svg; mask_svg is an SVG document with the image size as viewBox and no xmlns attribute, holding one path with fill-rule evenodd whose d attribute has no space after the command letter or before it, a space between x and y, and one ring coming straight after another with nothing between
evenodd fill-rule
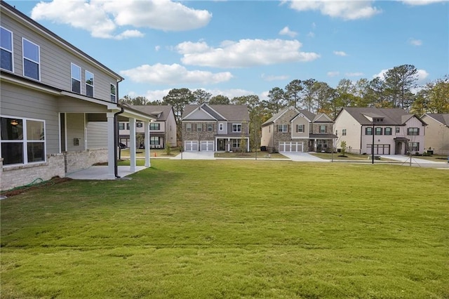
<instances>
[{"instance_id":1,"label":"low white cloud just right of the near house's roof corner","mask_svg":"<svg viewBox=\"0 0 449 299\"><path fill-rule=\"evenodd\" d=\"M149 84L216 84L232 79L230 72L189 71L182 65L141 65L120 72L131 81Z\"/></svg>"}]
</instances>

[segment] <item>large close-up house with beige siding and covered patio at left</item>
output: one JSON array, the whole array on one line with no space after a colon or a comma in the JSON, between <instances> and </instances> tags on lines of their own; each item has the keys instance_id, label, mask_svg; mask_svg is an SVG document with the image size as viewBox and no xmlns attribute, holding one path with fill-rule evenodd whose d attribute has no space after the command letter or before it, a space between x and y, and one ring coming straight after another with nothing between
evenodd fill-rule
<instances>
[{"instance_id":1,"label":"large close-up house with beige siding and covered patio at left","mask_svg":"<svg viewBox=\"0 0 449 299\"><path fill-rule=\"evenodd\" d=\"M98 162L116 178L116 119L154 117L117 103L119 74L5 1L0 8L1 190Z\"/></svg>"}]
</instances>

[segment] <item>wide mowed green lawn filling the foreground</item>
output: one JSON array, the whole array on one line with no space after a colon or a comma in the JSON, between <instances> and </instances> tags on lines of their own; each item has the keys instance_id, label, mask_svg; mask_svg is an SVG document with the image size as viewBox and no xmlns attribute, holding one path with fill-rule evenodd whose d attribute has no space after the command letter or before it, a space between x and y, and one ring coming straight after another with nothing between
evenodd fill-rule
<instances>
[{"instance_id":1,"label":"wide mowed green lawn filling the foreground","mask_svg":"<svg viewBox=\"0 0 449 299\"><path fill-rule=\"evenodd\" d=\"M449 298L449 173L153 160L1 200L1 298Z\"/></svg>"}]
</instances>

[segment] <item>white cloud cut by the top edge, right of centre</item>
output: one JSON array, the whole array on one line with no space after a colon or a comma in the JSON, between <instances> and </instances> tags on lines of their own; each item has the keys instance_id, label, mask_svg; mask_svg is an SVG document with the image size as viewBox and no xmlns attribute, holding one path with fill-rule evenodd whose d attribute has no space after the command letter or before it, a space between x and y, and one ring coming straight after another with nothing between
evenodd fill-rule
<instances>
[{"instance_id":1,"label":"white cloud cut by the top edge, right of centre","mask_svg":"<svg viewBox=\"0 0 449 299\"><path fill-rule=\"evenodd\" d=\"M302 0L302 1L283 1L289 3L290 8L296 11L320 11L323 15L329 15L333 18L342 18L343 20L356 20L371 18L380 13L380 9L373 7L374 1L335 1L335 0Z\"/></svg>"}]
</instances>

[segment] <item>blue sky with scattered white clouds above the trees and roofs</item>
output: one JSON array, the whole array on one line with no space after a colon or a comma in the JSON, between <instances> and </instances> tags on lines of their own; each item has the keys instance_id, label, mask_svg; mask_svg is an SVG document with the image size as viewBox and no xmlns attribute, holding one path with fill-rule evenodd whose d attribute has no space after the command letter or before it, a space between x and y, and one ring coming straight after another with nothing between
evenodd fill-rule
<instances>
[{"instance_id":1,"label":"blue sky with scattered white clouds above the trees and roofs","mask_svg":"<svg viewBox=\"0 0 449 299\"><path fill-rule=\"evenodd\" d=\"M121 74L120 97L264 99L294 79L335 87L403 64L420 84L449 74L447 1L6 1Z\"/></svg>"}]
</instances>

